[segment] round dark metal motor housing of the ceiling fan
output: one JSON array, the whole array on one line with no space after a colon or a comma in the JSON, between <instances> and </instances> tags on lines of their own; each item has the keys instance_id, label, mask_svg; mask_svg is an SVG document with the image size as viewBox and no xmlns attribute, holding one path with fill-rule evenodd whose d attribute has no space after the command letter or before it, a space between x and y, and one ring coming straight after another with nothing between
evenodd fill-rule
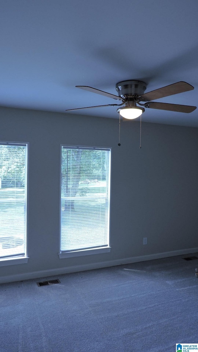
<instances>
[{"instance_id":1,"label":"round dark metal motor housing of the ceiling fan","mask_svg":"<svg viewBox=\"0 0 198 352\"><path fill-rule=\"evenodd\" d=\"M122 81L116 84L118 95L125 98L139 98L146 90L147 85L142 81Z\"/></svg>"}]
</instances>

